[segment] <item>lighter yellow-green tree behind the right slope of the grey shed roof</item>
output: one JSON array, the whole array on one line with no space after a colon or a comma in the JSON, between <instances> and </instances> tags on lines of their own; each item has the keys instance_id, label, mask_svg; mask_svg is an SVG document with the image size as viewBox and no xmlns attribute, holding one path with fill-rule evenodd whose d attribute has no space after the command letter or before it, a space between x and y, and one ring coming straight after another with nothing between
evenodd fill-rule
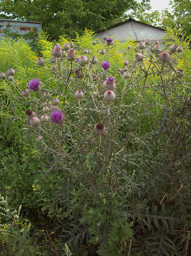
<instances>
[{"instance_id":1,"label":"lighter yellow-green tree behind the right slope of the grey shed roof","mask_svg":"<svg viewBox=\"0 0 191 256\"><path fill-rule=\"evenodd\" d=\"M172 8L172 12L168 11L168 8L162 11L154 11L152 13L145 13L142 10L139 10L137 13L134 13L134 17L138 18L140 21L160 28L183 28L183 33L186 33L185 36L190 36L191 34L191 1L190 0L171 0L169 2Z\"/></svg>"}]
</instances>

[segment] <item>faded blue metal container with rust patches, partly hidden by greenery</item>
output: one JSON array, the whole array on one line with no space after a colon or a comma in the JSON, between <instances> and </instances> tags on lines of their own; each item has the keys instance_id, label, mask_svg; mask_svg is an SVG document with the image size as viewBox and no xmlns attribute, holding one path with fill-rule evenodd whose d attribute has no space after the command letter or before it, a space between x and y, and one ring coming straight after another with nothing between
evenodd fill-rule
<instances>
[{"instance_id":1,"label":"faded blue metal container with rust patches, partly hidden by greenery","mask_svg":"<svg viewBox=\"0 0 191 256\"><path fill-rule=\"evenodd\" d=\"M29 32L39 33L41 27L42 22L0 19L0 40L2 36L5 36L5 34L3 34L3 29L24 35ZM37 36L35 36L34 39L37 39Z\"/></svg>"}]
</instances>

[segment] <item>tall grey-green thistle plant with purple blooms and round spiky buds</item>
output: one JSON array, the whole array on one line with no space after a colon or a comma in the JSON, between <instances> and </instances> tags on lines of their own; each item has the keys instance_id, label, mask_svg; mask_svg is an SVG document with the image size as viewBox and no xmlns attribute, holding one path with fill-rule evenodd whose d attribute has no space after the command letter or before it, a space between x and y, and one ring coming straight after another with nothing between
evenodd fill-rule
<instances>
[{"instance_id":1,"label":"tall grey-green thistle plant with purple blooms and round spiky buds","mask_svg":"<svg viewBox=\"0 0 191 256\"><path fill-rule=\"evenodd\" d=\"M107 36L103 39L105 47L101 45L96 56L90 49L82 49L83 55L74 45L64 44L62 49L55 43L50 58L37 63L45 71L51 69L51 76L46 83L38 77L28 81L28 89L11 103L7 116L20 118L15 116L14 106L26 105L26 116L23 113L22 117L25 135L39 150L39 158L46 159L47 171L42 172L42 178L48 172L65 175L53 205L60 205L72 219L66 223L60 220L58 226L73 234L67 236L73 250L86 236L97 246L99 255L122 255L127 251L130 255L131 250L138 253L133 233L141 237L145 229L144 217L133 208L138 202L138 212L147 209L149 228L164 232L157 236L160 253L176 253L179 248L173 239L178 238L168 238L168 230L169 226L172 230L175 225L181 226L176 191L180 181L187 184L185 170L191 159L191 88L183 70L177 67L182 48L173 44L162 50L157 40L152 43L146 39L137 44L136 52L128 46L127 56L116 68L109 59L114 40ZM53 59L56 68L50 68ZM9 92L15 82L6 75L0 77ZM57 84L55 90L48 87L50 79ZM1 104L5 107L4 102ZM185 185L179 192L185 195L187 189ZM144 198L150 198L151 191L154 202ZM160 208L161 215L153 204ZM174 212L167 223L164 208L169 213L171 206ZM187 210L180 215L190 228ZM152 240L150 231L147 235ZM145 252L148 246L143 244Z\"/></svg>"}]
</instances>

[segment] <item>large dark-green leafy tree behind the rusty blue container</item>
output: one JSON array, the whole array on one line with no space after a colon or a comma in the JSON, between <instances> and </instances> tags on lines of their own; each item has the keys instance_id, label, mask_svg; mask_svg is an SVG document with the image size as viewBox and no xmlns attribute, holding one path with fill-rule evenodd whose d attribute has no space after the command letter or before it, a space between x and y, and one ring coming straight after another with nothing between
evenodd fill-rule
<instances>
[{"instance_id":1,"label":"large dark-green leafy tree behind the rusty blue container","mask_svg":"<svg viewBox=\"0 0 191 256\"><path fill-rule=\"evenodd\" d=\"M128 10L150 9L150 0L0 0L0 18L33 20L43 23L43 30L58 39L73 37L84 28L97 31L120 22Z\"/></svg>"}]
</instances>

